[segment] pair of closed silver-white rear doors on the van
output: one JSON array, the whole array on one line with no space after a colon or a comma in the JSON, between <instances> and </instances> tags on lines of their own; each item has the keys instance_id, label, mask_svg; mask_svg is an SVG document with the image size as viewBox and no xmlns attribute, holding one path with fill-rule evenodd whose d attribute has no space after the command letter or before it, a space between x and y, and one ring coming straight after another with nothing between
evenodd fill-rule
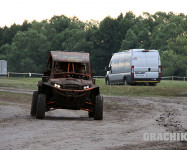
<instances>
[{"instance_id":1,"label":"pair of closed silver-white rear doors on the van","mask_svg":"<svg viewBox=\"0 0 187 150\"><path fill-rule=\"evenodd\" d=\"M134 78L158 78L159 54L156 50L133 53Z\"/></svg>"}]
</instances>

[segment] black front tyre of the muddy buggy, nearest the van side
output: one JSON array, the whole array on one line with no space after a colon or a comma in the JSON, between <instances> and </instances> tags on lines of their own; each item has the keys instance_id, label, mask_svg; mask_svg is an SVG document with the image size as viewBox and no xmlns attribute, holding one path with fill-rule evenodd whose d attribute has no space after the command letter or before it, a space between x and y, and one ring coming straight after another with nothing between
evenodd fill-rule
<instances>
[{"instance_id":1,"label":"black front tyre of the muddy buggy, nearest the van side","mask_svg":"<svg viewBox=\"0 0 187 150\"><path fill-rule=\"evenodd\" d=\"M101 95L96 96L94 119L103 119L103 97Z\"/></svg>"}]
</instances>

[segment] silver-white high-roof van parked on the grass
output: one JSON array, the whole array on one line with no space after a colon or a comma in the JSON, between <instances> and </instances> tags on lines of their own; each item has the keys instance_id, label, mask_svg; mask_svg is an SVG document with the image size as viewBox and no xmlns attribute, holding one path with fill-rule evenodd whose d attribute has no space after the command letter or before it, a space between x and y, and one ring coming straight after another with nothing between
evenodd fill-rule
<instances>
[{"instance_id":1,"label":"silver-white high-roof van parked on the grass","mask_svg":"<svg viewBox=\"0 0 187 150\"><path fill-rule=\"evenodd\" d=\"M106 85L145 83L155 86L161 80L158 50L131 49L114 53L106 68Z\"/></svg>"}]
</instances>

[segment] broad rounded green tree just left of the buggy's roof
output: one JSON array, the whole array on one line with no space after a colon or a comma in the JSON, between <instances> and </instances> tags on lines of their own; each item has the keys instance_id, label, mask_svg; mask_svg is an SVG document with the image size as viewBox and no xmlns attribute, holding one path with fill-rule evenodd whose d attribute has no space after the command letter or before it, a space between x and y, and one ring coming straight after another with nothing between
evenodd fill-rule
<instances>
[{"instance_id":1,"label":"broad rounded green tree just left of the buggy's roof","mask_svg":"<svg viewBox=\"0 0 187 150\"><path fill-rule=\"evenodd\" d=\"M8 58L10 70L16 72L41 72L44 70L49 43L47 38L34 30L19 31L11 45Z\"/></svg>"}]
</instances>

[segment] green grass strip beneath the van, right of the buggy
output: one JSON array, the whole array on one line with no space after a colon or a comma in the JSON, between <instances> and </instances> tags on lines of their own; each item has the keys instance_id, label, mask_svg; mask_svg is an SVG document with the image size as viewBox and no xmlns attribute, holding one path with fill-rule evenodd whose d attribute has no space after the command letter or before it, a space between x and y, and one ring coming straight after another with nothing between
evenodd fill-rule
<instances>
[{"instance_id":1,"label":"green grass strip beneath the van, right of the buggy","mask_svg":"<svg viewBox=\"0 0 187 150\"><path fill-rule=\"evenodd\" d=\"M161 81L157 86L106 86L104 79L97 79L101 94L119 96L187 96L187 82Z\"/></svg>"}]
</instances>

